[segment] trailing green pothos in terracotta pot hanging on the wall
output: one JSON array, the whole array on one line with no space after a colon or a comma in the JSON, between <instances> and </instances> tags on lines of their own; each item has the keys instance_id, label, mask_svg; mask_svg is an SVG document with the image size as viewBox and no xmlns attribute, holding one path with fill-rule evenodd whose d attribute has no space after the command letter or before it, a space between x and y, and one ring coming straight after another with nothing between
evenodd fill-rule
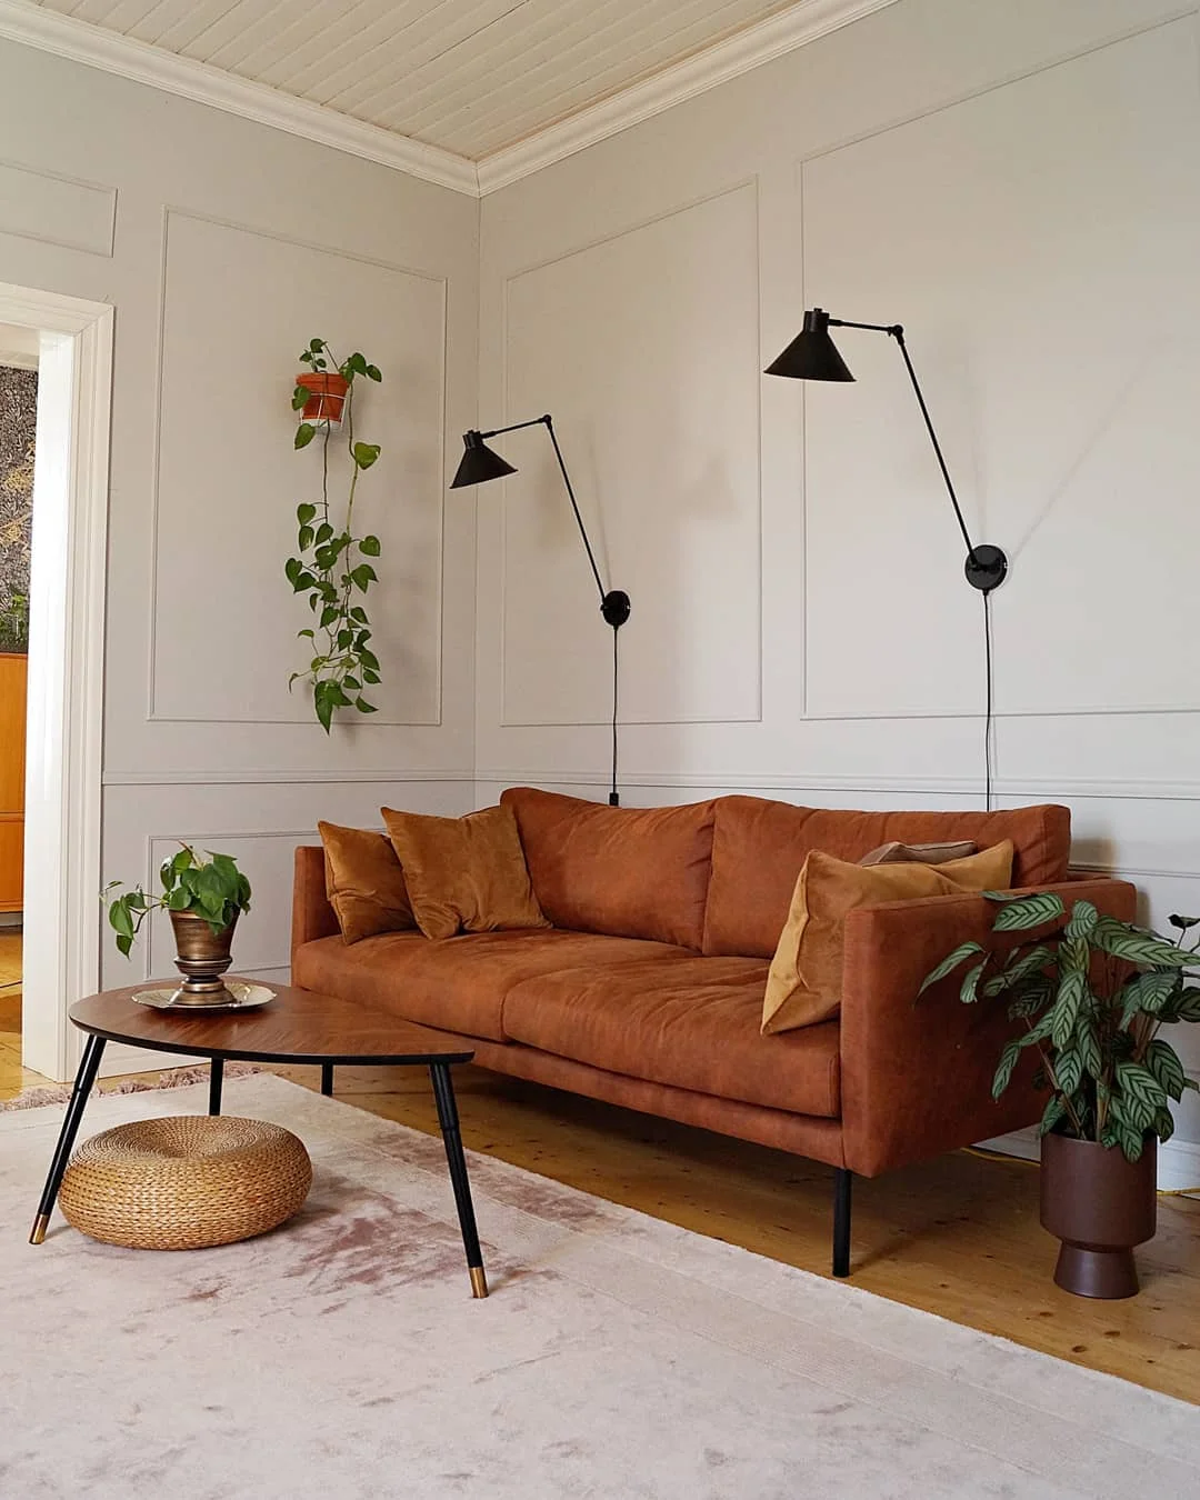
<instances>
[{"instance_id":1,"label":"trailing green pothos in terracotta pot hanging on the wall","mask_svg":"<svg viewBox=\"0 0 1200 1500\"><path fill-rule=\"evenodd\" d=\"M310 642L314 654L306 670L292 672L288 686L312 684L312 705L328 734L339 708L375 712L375 705L363 698L363 690L380 681L363 596L378 576L368 558L380 555L380 538L356 537L352 522L358 476L375 464L380 444L360 442L354 436L354 382L360 376L372 381L382 376L357 352L338 363L324 339L312 339L300 363L308 364L312 381L306 384L304 375L297 376L292 392L292 411L303 414L294 446L306 448L314 440L321 441L321 501L296 507L297 555L288 558L285 573L294 592L308 594L316 622L297 632L300 639ZM332 382L345 382L344 400L330 396ZM336 417L339 411L351 460L350 494L340 516L334 514L330 500L330 414ZM315 420L308 420L309 416Z\"/></svg>"}]
</instances>

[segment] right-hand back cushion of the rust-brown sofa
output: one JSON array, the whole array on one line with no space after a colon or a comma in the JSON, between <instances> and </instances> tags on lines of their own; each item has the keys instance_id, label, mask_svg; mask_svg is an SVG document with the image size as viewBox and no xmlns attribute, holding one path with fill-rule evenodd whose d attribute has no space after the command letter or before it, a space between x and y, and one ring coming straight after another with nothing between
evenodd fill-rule
<instances>
[{"instance_id":1,"label":"right-hand back cushion of the rust-brown sofa","mask_svg":"<svg viewBox=\"0 0 1200 1500\"><path fill-rule=\"evenodd\" d=\"M1012 884L1053 885L1066 876L1071 812L1047 804L996 813L856 813L720 796L704 951L770 958L810 849L856 862L892 838L970 838L980 849L1011 838Z\"/></svg>"}]
</instances>

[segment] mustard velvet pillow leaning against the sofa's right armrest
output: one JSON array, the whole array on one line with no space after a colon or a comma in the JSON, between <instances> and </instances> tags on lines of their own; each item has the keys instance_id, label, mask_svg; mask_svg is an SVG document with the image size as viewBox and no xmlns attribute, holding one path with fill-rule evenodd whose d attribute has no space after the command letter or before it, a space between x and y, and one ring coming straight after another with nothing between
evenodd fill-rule
<instances>
[{"instance_id":1,"label":"mustard velvet pillow leaning against the sofa's right armrest","mask_svg":"<svg viewBox=\"0 0 1200 1500\"><path fill-rule=\"evenodd\" d=\"M800 872L792 909L766 975L764 1034L830 1020L842 1006L842 945L855 906L921 896L1004 891L1012 880L1012 840L946 864L846 864L813 849Z\"/></svg>"}]
</instances>

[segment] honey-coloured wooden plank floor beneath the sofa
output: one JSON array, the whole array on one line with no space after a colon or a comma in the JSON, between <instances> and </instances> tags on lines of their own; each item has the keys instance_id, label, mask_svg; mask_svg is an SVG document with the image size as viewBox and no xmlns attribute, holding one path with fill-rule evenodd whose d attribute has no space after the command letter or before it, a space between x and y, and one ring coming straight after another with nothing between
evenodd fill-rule
<instances>
[{"instance_id":1,"label":"honey-coloured wooden plank floor beneath the sofa","mask_svg":"<svg viewBox=\"0 0 1200 1500\"><path fill-rule=\"evenodd\" d=\"M0 1098L22 1086L3 1005ZM276 1071L318 1088L315 1068ZM456 1077L470 1149L828 1274L828 1168L478 1068ZM417 1070L340 1068L336 1084L345 1102L436 1132ZM1056 1244L1038 1224L1036 1167L957 1152L855 1182L850 1284L1200 1402L1200 1203L1160 1198L1158 1226L1138 1251L1140 1296L1068 1296L1050 1280Z\"/></svg>"}]
</instances>

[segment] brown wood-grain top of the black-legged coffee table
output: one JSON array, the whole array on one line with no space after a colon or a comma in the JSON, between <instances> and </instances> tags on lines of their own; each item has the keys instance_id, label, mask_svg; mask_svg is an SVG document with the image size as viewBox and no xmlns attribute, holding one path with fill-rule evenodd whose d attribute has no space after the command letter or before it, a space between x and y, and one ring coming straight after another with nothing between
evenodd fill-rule
<instances>
[{"instance_id":1,"label":"brown wood-grain top of the black-legged coffee table","mask_svg":"<svg viewBox=\"0 0 1200 1500\"><path fill-rule=\"evenodd\" d=\"M274 999L254 1011L206 1016L134 1000L140 990L176 982L152 980L90 994L70 1006L70 1020L108 1041L243 1062L456 1064L474 1058L456 1036L290 984L268 986Z\"/></svg>"}]
</instances>

